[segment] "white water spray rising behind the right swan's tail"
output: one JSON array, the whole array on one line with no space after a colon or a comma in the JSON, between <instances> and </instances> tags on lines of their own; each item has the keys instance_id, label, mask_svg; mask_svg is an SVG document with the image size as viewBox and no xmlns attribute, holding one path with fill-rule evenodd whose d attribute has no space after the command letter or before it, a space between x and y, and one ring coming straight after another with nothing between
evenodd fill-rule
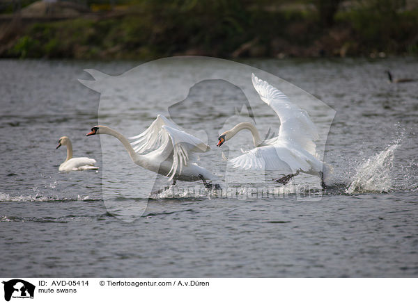
<instances>
[{"instance_id":1,"label":"white water spray rising behind the right swan's tail","mask_svg":"<svg viewBox=\"0 0 418 303\"><path fill-rule=\"evenodd\" d=\"M394 152L400 146L399 138L384 151L367 159L357 168L357 172L346 193L387 193L392 189L392 167Z\"/></svg>"}]
</instances>

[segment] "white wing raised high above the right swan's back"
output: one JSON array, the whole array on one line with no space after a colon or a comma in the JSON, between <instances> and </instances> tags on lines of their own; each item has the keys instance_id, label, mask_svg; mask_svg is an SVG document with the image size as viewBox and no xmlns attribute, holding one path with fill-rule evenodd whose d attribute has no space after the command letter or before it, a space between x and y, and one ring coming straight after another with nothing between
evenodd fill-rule
<instances>
[{"instance_id":1,"label":"white wing raised high above the right swan's back","mask_svg":"<svg viewBox=\"0 0 418 303\"><path fill-rule=\"evenodd\" d=\"M319 138L318 131L306 110L302 110L296 104L291 103L283 92L258 79L254 74L251 75L251 79L261 100L267 103L280 118L278 140L286 140L300 145L310 154L315 155L316 144L314 140Z\"/></svg>"}]
</instances>

